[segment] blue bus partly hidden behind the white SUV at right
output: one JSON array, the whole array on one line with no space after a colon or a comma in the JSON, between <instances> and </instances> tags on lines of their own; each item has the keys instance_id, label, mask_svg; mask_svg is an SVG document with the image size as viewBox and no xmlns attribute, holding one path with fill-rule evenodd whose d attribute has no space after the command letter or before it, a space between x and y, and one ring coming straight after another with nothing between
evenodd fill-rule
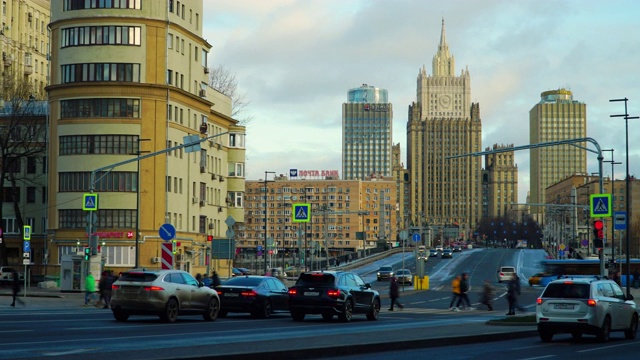
<instances>
[{"instance_id":1,"label":"blue bus partly hidden behind the white SUV at right","mask_svg":"<svg viewBox=\"0 0 640 360\"><path fill-rule=\"evenodd\" d=\"M600 275L599 259L568 259L568 260L542 260L542 272L545 274L540 279L540 285L547 286L549 282L559 276L566 275ZM633 281L633 272L640 271L640 259L629 259L631 269L629 274ZM627 286L627 262L622 261L622 272L620 273L620 285ZM620 269L620 263L616 263L615 269ZM606 264L608 265L608 264ZM632 284L632 283L630 283Z\"/></svg>"}]
</instances>

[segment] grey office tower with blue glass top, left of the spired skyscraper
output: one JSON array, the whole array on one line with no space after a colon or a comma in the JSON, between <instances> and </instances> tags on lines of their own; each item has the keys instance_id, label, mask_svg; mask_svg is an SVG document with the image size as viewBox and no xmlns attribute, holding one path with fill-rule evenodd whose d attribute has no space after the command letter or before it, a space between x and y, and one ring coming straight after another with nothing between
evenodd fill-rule
<instances>
[{"instance_id":1,"label":"grey office tower with blue glass top, left of the spired skyscraper","mask_svg":"<svg viewBox=\"0 0 640 360\"><path fill-rule=\"evenodd\" d=\"M393 109L387 90L363 84L342 104L342 178L391 176Z\"/></svg>"}]
</instances>

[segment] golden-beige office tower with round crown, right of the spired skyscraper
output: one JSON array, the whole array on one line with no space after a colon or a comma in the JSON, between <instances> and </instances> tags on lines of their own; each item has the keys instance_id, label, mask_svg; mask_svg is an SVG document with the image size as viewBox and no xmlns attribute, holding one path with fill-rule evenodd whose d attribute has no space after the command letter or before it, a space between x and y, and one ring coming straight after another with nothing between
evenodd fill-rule
<instances>
[{"instance_id":1,"label":"golden-beige office tower with round crown, right of the spired skyscraper","mask_svg":"<svg viewBox=\"0 0 640 360\"><path fill-rule=\"evenodd\" d=\"M571 91L545 91L529 111L529 142L578 139L587 136L587 105L573 99ZM581 146L582 148L578 147ZM587 173L586 143L531 149L531 203L546 204L545 189L573 174ZM544 206L532 206L543 214ZM535 216L540 221L543 218Z\"/></svg>"}]
</instances>

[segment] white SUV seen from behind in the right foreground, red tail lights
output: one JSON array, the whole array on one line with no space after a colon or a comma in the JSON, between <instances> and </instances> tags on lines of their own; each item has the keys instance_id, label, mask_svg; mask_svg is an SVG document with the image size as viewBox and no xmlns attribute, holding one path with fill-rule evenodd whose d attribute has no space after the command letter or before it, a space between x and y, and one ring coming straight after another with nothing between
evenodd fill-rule
<instances>
[{"instance_id":1,"label":"white SUV seen from behind in the right foreground, red tail lights","mask_svg":"<svg viewBox=\"0 0 640 360\"><path fill-rule=\"evenodd\" d=\"M606 342L612 331L635 339L638 311L633 296L625 295L613 280L600 276L565 277L550 282L536 302L538 335L550 342L554 334L574 339L595 335Z\"/></svg>"}]
</instances>

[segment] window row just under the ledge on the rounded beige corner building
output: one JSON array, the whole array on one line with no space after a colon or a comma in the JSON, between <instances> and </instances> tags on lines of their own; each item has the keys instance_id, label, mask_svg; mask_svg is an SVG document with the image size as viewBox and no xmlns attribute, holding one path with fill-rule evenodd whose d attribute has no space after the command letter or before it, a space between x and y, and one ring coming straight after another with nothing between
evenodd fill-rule
<instances>
[{"instance_id":1,"label":"window row just under the ledge on the rounded beige corner building","mask_svg":"<svg viewBox=\"0 0 640 360\"><path fill-rule=\"evenodd\" d=\"M60 101L60 118L139 118L139 99L76 99Z\"/></svg>"}]
</instances>

